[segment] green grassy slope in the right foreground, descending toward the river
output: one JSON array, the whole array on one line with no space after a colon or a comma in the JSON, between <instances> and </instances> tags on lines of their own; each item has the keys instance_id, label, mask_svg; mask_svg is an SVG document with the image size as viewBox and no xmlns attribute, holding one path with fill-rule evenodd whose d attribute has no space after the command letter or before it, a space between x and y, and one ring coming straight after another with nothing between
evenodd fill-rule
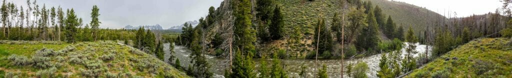
<instances>
[{"instance_id":1,"label":"green grassy slope in the right foreground, descending toward the river","mask_svg":"<svg viewBox=\"0 0 512 78\"><path fill-rule=\"evenodd\" d=\"M443 72L449 77L512 77L512 45L508 38L474 40L441 56L407 77L432 77ZM457 57L458 60L453 60ZM445 61L450 58L451 60ZM480 75L478 75L480 73Z\"/></svg>"}]
</instances>

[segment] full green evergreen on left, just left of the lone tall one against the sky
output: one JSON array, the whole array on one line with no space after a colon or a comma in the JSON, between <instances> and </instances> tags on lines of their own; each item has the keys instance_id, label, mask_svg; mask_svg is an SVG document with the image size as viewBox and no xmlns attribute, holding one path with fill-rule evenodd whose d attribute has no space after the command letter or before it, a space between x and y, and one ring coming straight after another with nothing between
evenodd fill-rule
<instances>
[{"instance_id":1,"label":"full green evergreen on left, just left of the lone tall one against the sky","mask_svg":"<svg viewBox=\"0 0 512 78\"><path fill-rule=\"evenodd\" d=\"M78 18L73 9L68 10L66 18L66 42L74 43L76 41L77 26L79 26Z\"/></svg>"}]
</instances>

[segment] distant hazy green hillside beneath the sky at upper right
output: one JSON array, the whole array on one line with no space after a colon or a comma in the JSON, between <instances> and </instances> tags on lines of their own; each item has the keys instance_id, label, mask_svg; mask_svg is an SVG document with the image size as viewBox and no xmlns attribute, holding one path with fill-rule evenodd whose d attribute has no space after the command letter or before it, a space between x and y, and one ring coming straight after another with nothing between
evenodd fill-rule
<instances>
[{"instance_id":1,"label":"distant hazy green hillside beneath the sky at upper right","mask_svg":"<svg viewBox=\"0 0 512 78\"><path fill-rule=\"evenodd\" d=\"M393 22L402 26L407 30L408 26L412 26L416 33L424 31L429 23L434 22L435 19L443 19L444 16L415 5L403 2L391 2L388 0L366 0L371 1L374 6L378 5L382 9L382 13L391 15Z\"/></svg>"}]
</instances>

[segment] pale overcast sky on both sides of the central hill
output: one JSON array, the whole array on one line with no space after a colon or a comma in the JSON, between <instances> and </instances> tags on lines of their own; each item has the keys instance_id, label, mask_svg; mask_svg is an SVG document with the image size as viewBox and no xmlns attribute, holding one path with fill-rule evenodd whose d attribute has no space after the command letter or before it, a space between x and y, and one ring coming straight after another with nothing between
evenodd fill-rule
<instances>
[{"instance_id":1,"label":"pale overcast sky on both sides of the central hill","mask_svg":"<svg viewBox=\"0 0 512 78\"><path fill-rule=\"evenodd\" d=\"M126 25L156 25L164 29L206 16L210 6L219 7L223 0L39 0L39 5L74 8L84 24L91 21L93 5L100 8L101 28L123 28ZM457 16L494 12L499 0L394 0L426 7L439 14L457 12ZM8 0L24 6L26 0Z\"/></svg>"}]
</instances>

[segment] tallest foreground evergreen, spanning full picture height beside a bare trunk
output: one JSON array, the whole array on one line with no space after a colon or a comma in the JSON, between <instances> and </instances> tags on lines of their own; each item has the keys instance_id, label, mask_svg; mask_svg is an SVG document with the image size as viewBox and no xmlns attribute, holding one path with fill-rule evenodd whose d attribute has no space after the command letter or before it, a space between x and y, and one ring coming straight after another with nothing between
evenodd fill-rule
<instances>
[{"instance_id":1,"label":"tallest foreground evergreen, spanning full picture height beside a bare trunk","mask_svg":"<svg viewBox=\"0 0 512 78\"><path fill-rule=\"evenodd\" d=\"M252 54L254 50L253 42L256 41L255 30L251 28L251 2L249 0L233 1L234 9L234 40L235 59L232 64L232 73L228 72L227 77L255 77L253 72L254 62Z\"/></svg>"}]
</instances>

